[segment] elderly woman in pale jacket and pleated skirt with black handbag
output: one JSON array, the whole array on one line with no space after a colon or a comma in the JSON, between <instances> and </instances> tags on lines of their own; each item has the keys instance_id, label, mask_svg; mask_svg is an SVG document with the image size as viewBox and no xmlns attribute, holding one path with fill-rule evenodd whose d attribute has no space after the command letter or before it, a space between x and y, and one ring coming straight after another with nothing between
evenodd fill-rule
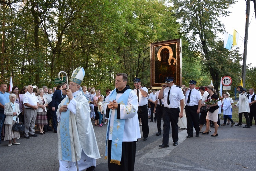
<instances>
[{"instance_id":1,"label":"elderly woman in pale jacket and pleated skirt with black handbag","mask_svg":"<svg viewBox=\"0 0 256 171\"><path fill-rule=\"evenodd\" d=\"M10 99L10 102L4 105L4 114L6 115L6 118L4 121L4 124L6 124L4 141L9 140L8 146L12 146L12 140L13 140L13 144L16 144L16 145L20 144L16 141L16 139L20 138L19 132L12 130L12 126L15 124L16 120L19 123L18 115L20 114L20 110L19 110L19 105L15 103L16 95L13 93L10 94L9 99Z\"/></svg>"}]
</instances>

